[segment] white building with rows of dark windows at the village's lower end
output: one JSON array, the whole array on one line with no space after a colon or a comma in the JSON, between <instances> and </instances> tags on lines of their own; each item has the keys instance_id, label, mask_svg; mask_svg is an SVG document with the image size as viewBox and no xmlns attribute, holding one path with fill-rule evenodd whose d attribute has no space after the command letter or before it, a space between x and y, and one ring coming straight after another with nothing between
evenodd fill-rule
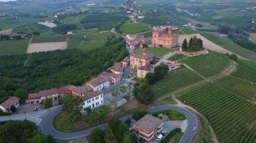
<instances>
[{"instance_id":1,"label":"white building with rows of dark windows at the village's lower end","mask_svg":"<svg viewBox=\"0 0 256 143\"><path fill-rule=\"evenodd\" d=\"M82 103L82 112L86 112L86 108L97 108L104 105L104 94L103 92L89 92L84 97Z\"/></svg>"}]
</instances>

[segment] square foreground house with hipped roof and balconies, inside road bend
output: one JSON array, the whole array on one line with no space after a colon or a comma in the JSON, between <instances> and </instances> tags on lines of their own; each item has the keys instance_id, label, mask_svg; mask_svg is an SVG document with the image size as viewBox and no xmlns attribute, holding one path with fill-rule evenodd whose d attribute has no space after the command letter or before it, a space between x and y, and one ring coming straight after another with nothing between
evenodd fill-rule
<instances>
[{"instance_id":1,"label":"square foreground house with hipped roof and balconies, inside road bend","mask_svg":"<svg viewBox=\"0 0 256 143\"><path fill-rule=\"evenodd\" d=\"M147 114L134 124L134 132L145 142L152 142L163 129L163 122L157 117Z\"/></svg>"}]
</instances>

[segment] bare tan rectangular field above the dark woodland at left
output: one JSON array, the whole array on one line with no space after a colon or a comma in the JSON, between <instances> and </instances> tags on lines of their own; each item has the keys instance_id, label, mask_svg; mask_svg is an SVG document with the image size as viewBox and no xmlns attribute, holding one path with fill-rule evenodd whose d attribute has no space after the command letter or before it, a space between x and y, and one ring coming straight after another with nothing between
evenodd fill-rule
<instances>
[{"instance_id":1,"label":"bare tan rectangular field above the dark woodland at left","mask_svg":"<svg viewBox=\"0 0 256 143\"><path fill-rule=\"evenodd\" d=\"M66 41L31 43L27 48L27 53L35 53L40 51L55 51L58 49L63 50L67 48L68 43Z\"/></svg>"}]
</instances>

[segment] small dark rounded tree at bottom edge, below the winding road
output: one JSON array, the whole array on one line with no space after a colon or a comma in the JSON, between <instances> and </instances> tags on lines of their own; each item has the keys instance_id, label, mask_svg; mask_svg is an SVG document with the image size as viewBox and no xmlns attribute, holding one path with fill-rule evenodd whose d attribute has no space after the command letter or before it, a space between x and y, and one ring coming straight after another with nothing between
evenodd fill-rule
<instances>
[{"instance_id":1,"label":"small dark rounded tree at bottom edge, below the winding road","mask_svg":"<svg viewBox=\"0 0 256 143\"><path fill-rule=\"evenodd\" d=\"M89 143L104 143L105 132L101 129L93 129L88 136Z\"/></svg>"}]
</instances>

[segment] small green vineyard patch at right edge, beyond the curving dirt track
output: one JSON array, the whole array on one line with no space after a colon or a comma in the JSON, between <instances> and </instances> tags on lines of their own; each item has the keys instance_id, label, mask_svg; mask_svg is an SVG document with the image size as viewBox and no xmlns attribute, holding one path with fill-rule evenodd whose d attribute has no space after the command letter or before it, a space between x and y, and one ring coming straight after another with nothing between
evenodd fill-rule
<instances>
[{"instance_id":1,"label":"small green vineyard patch at right edge, beyond the curving dirt track","mask_svg":"<svg viewBox=\"0 0 256 143\"><path fill-rule=\"evenodd\" d=\"M235 77L240 77L242 79L250 80L251 82L256 82L256 71L250 69L248 66L244 66L242 64L238 64L237 71L235 71L232 75Z\"/></svg>"}]
</instances>

